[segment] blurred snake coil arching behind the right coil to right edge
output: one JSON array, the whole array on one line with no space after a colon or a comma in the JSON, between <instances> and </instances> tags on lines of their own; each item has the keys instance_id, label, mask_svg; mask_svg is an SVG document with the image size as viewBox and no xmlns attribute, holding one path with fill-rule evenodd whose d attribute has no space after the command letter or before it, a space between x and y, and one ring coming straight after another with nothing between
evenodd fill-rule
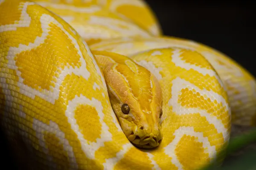
<instances>
[{"instance_id":1,"label":"blurred snake coil arching behind the right coil to right edge","mask_svg":"<svg viewBox=\"0 0 256 170\"><path fill-rule=\"evenodd\" d=\"M170 47L190 49L203 55L215 69L224 84L232 110L232 123L245 126L256 125L255 78L233 59L215 49L191 40L176 37L131 37L108 41L102 40L102 42L90 45L92 50L115 52L128 57L153 48Z\"/></svg>"}]
</instances>

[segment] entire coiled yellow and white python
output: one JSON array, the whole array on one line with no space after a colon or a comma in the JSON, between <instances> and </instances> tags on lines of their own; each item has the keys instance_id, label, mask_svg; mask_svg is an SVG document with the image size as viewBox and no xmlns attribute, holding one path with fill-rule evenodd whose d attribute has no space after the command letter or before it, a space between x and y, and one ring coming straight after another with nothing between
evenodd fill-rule
<instances>
[{"instance_id":1,"label":"entire coiled yellow and white python","mask_svg":"<svg viewBox=\"0 0 256 170\"><path fill-rule=\"evenodd\" d=\"M194 170L221 163L231 123L256 124L254 77L163 36L142 0L34 1L0 0L0 124L20 166Z\"/></svg>"}]
</instances>

